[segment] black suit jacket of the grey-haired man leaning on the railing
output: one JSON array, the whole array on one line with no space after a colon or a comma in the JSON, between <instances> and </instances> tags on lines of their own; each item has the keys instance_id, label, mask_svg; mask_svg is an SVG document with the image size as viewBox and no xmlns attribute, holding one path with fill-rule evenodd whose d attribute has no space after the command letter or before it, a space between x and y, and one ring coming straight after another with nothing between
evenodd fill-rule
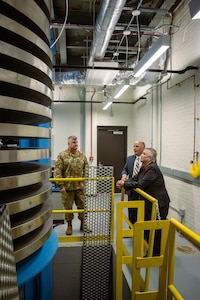
<instances>
[{"instance_id":1,"label":"black suit jacket of the grey-haired man leaning on the railing","mask_svg":"<svg viewBox=\"0 0 200 300\"><path fill-rule=\"evenodd\" d=\"M158 200L159 207L169 205L170 198L165 187L163 175L155 162L146 168L142 166L139 173L124 182L125 190L140 188Z\"/></svg>"}]
</instances>

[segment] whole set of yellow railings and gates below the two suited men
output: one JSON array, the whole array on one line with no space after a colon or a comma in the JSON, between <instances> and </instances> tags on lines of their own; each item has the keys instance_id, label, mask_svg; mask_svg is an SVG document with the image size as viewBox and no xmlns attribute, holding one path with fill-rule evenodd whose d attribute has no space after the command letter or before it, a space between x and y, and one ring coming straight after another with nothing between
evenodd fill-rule
<instances>
[{"instance_id":1,"label":"whole set of yellow railings and gates below the two suited men","mask_svg":"<svg viewBox=\"0 0 200 300\"><path fill-rule=\"evenodd\" d=\"M149 198L146 193L137 189L144 197ZM124 193L124 191L122 191ZM183 300L180 292L174 285L174 260L176 232L181 232L187 239L200 247L200 236L175 219L144 221L144 201L124 201L117 203L117 244L116 244L116 300L122 300L123 295L123 265L128 265L132 275L132 300ZM151 196L149 200L151 199ZM124 229L123 210L125 208L138 209L138 222L135 223L127 234ZM128 223L128 222L127 222ZM129 223L128 223L129 224ZM146 242L144 231L150 230L149 248L147 257L144 257ZM155 230L161 231L160 256L152 256ZM153 234L152 234L153 233ZM132 253L125 247L123 238L133 237ZM159 268L158 290L150 291L150 271L152 268ZM141 270L143 272L141 272ZM141 275L143 274L143 275Z\"/></svg>"}]
</instances>

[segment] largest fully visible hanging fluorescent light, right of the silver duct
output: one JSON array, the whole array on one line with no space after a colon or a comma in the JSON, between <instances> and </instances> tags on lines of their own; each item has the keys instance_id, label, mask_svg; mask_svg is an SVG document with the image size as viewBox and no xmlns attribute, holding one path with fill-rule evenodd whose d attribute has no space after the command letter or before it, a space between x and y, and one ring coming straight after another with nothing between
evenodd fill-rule
<instances>
[{"instance_id":1,"label":"largest fully visible hanging fluorescent light, right of the silver duct","mask_svg":"<svg viewBox=\"0 0 200 300\"><path fill-rule=\"evenodd\" d=\"M136 65L133 70L134 77L142 75L169 47L170 37L162 35Z\"/></svg>"}]
</instances>

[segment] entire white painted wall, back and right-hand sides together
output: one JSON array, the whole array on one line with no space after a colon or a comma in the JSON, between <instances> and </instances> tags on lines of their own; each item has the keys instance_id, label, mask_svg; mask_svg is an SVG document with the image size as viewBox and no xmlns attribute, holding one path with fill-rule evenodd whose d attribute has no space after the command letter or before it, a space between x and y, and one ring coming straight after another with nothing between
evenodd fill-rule
<instances>
[{"instance_id":1,"label":"entire white painted wall, back and right-hand sides together","mask_svg":"<svg viewBox=\"0 0 200 300\"><path fill-rule=\"evenodd\" d=\"M187 66L200 67L200 20L192 21L189 1L183 1L173 16L171 41L172 51L168 59L168 70L183 70ZM159 79L159 78L158 78ZM196 89L194 85L197 85ZM119 101L134 101L145 95L136 104L113 104L111 109L102 110L101 103L93 103L92 114L90 103L60 103L53 105L52 125L52 159L58 152L67 147L67 137L78 136L80 145L87 157L94 156L96 165L97 126L127 126L127 155L133 153L133 143L137 139L144 140L146 146L158 151L158 163L171 170L186 172L189 175L194 151L200 151L200 72L191 70L183 74L168 73L157 85L148 86L135 93L134 88L123 95ZM101 101L102 95L93 95L94 90L87 87L86 101ZM136 96L135 96L136 95ZM81 101L80 90L57 87L54 99ZM85 114L85 115L83 115ZM84 135L82 130L84 127ZM84 143L82 140L84 139ZM195 148L194 148L195 145ZM200 201L199 186L164 176L166 187L171 198L171 206L177 210L185 209L183 222L200 234ZM192 178L192 177L191 177ZM170 209L169 217L180 219Z\"/></svg>"}]
</instances>

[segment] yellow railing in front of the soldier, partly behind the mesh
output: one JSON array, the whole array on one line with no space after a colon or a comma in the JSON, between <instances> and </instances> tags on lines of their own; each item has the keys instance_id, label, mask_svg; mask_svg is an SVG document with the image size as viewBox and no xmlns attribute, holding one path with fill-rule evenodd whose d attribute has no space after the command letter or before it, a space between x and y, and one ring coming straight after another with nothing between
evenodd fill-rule
<instances>
[{"instance_id":1,"label":"yellow railing in front of the soldier, partly behind the mesh","mask_svg":"<svg viewBox=\"0 0 200 300\"><path fill-rule=\"evenodd\" d=\"M112 180L112 199L111 199L111 242L114 239L114 177L80 177L80 178L49 178L51 182L64 182L64 181L105 181L105 180ZM87 209L87 212L106 212L105 209ZM66 210L66 209L53 209L53 214L63 214L63 213L78 213L78 212L85 212L84 209L73 209L73 210ZM101 237L102 238L102 237ZM58 241L62 242L82 242L83 235L76 235L76 236L59 236Z\"/></svg>"}]
</instances>

